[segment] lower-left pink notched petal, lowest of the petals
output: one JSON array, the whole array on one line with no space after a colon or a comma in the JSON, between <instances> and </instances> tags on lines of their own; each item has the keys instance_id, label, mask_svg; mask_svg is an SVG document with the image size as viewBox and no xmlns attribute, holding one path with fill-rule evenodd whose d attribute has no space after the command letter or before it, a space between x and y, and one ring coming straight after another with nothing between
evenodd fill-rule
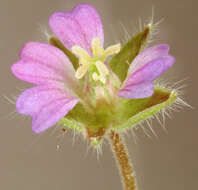
<instances>
[{"instance_id":1,"label":"lower-left pink notched petal, lowest of the petals","mask_svg":"<svg viewBox=\"0 0 198 190\"><path fill-rule=\"evenodd\" d=\"M58 122L78 101L65 89L40 85L25 90L17 99L16 109L32 116L32 129L39 133Z\"/></svg>"}]
</instances>

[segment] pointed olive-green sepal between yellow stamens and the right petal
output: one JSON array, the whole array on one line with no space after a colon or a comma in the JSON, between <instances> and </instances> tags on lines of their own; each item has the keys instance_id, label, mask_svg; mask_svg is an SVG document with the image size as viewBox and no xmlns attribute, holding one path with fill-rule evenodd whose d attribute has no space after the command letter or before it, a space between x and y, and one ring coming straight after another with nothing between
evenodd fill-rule
<instances>
[{"instance_id":1,"label":"pointed olive-green sepal between yellow stamens and the right petal","mask_svg":"<svg viewBox=\"0 0 198 190\"><path fill-rule=\"evenodd\" d=\"M109 62L112 71L119 77L121 82L125 80L128 68L133 59L145 46L150 30L151 27L147 26L143 31L132 37L126 44L124 44L120 52L113 56Z\"/></svg>"}]
</instances>

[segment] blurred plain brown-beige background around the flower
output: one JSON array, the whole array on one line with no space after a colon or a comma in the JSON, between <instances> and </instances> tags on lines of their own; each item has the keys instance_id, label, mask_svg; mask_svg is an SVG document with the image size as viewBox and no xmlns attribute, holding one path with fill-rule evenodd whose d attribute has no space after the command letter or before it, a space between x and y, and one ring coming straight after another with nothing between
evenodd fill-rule
<instances>
[{"instance_id":1,"label":"blurred plain brown-beige background around the flower","mask_svg":"<svg viewBox=\"0 0 198 190\"><path fill-rule=\"evenodd\" d=\"M81 137L61 133L60 128L35 135L30 119L14 113L10 103L29 87L10 72L20 48L28 41L45 41L48 18L55 11L69 11L79 3L95 6L104 24L105 44L124 38L123 26L133 34L138 20L152 15L159 25L155 43L168 43L176 64L165 78L184 88L184 108L166 119L165 131L158 122L146 137L136 131L126 136L136 170L139 190L198 189L198 3L195 0L0 0L0 189L2 190L120 190L119 175L109 144L97 157ZM122 23L122 24L121 24ZM10 100L7 100L9 98ZM75 139L75 140L74 140Z\"/></svg>"}]
</instances>

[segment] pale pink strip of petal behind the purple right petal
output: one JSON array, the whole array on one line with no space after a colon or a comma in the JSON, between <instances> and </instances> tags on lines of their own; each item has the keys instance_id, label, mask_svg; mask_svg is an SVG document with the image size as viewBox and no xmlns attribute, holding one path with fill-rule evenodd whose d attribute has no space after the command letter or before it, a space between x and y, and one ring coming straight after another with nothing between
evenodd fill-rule
<instances>
[{"instance_id":1,"label":"pale pink strip of petal behind the purple right petal","mask_svg":"<svg viewBox=\"0 0 198 190\"><path fill-rule=\"evenodd\" d=\"M140 69L148 62L157 59L159 57L168 55L168 51L169 51L169 46L167 44L160 44L147 48L133 60L128 70L128 76L134 73L135 71L137 71L138 69Z\"/></svg>"}]
</instances>

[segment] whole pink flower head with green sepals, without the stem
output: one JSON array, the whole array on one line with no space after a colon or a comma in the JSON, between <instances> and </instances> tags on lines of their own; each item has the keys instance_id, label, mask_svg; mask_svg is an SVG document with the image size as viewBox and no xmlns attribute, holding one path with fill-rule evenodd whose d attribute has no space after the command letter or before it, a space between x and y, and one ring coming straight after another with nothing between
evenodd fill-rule
<instances>
[{"instance_id":1,"label":"whole pink flower head with green sepals, without the stem","mask_svg":"<svg viewBox=\"0 0 198 190\"><path fill-rule=\"evenodd\" d=\"M49 25L56 37L25 44L11 67L17 78L36 84L16 102L20 114L32 117L35 133L59 122L97 145L109 131L132 128L177 98L153 83L174 57L166 44L144 49L152 24L122 47L105 49L100 17L90 5L56 12Z\"/></svg>"}]
</instances>

